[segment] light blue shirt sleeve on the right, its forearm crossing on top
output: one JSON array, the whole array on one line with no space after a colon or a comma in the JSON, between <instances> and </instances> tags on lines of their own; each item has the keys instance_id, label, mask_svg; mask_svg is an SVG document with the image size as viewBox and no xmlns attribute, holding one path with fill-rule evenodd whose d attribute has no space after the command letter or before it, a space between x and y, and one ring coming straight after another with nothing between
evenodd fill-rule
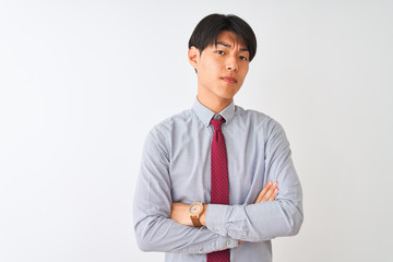
<instances>
[{"instance_id":1,"label":"light blue shirt sleeve on the right, its forearm crossing on top","mask_svg":"<svg viewBox=\"0 0 393 262\"><path fill-rule=\"evenodd\" d=\"M210 204L206 211L210 230L252 242L294 236L299 231L303 221L300 181L283 128L274 120L270 127L262 160L265 162L266 181L278 181L276 200L245 205Z\"/></svg>"}]
</instances>

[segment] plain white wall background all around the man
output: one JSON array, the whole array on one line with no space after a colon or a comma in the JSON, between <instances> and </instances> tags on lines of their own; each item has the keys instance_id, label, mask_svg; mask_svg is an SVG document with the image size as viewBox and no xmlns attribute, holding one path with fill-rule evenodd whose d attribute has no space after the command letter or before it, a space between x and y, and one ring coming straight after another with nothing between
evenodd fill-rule
<instances>
[{"instance_id":1,"label":"plain white wall background all around the man","mask_svg":"<svg viewBox=\"0 0 393 262\"><path fill-rule=\"evenodd\" d=\"M135 243L143 141L196 94L188 39L235 13L235 97L283 124L305 223L275 262L392 261L392 1L0 1L0 261L163 261Z\"/></svg>"}]
</instances>

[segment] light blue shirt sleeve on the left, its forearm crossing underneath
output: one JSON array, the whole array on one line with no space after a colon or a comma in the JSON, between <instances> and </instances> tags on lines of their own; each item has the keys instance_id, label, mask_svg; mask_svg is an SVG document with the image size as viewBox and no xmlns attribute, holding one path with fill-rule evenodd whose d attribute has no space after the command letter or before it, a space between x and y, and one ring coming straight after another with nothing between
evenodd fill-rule
<instances>
[{"instance_id":1,"label":"light blue shirt sleeve on the left, its forearm crossing underneath","mask_svg":"<svg viewBox=\"0 0 393 262\"><path fill-rule=\"evenodd\" d=\"M170 219L169 157L163 138L151 132L144 144L133 201L138 246L143 251L210 253L235 248L238 240L209 230L183 226ZM159 142L158 142L159 141Z\"/></svg>"}]
</instances>

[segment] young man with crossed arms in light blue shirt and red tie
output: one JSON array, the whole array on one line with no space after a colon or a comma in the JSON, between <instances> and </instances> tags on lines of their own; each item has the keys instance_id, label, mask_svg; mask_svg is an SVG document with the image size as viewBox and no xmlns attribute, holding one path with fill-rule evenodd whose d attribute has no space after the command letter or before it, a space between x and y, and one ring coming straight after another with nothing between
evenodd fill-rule
<instances>
[{"instance_id":1,"label":"young man with crossed arms in light blue shirt and red tie","mask_svg":"<svg viewBox=\"0 0 393 262\"><path fill-rule=\"evenodd\" d=\"M192 33L195 103L155 126L144 145L134 198L143 251L166 252L166 261L272 261L271 239L299 231L302 193L283 128L234 104L255 51L236 15L211 14Z\"/></svg>"}]
</instances>

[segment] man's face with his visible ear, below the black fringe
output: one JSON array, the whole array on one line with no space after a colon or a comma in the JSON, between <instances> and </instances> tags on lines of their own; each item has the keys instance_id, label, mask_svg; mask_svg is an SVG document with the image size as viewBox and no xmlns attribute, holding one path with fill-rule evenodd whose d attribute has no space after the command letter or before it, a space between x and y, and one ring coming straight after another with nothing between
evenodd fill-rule
<instances>
[{"instance_id":1,"label":"man's face with his visible ear, below the black fringe","mask_svg":"<svg viewBox=\"0 0 393 262\"><path fill-rule=\"evenodd\" d=\"M217 46L207 46L202 55L192 48L189 58L198 72L198 95L217 102L231 100L249 70L249 51L243 40L233 32L223 31L217 36ZM194 63L190 53L195 53Z\"/></svg>"}]
</instances>

